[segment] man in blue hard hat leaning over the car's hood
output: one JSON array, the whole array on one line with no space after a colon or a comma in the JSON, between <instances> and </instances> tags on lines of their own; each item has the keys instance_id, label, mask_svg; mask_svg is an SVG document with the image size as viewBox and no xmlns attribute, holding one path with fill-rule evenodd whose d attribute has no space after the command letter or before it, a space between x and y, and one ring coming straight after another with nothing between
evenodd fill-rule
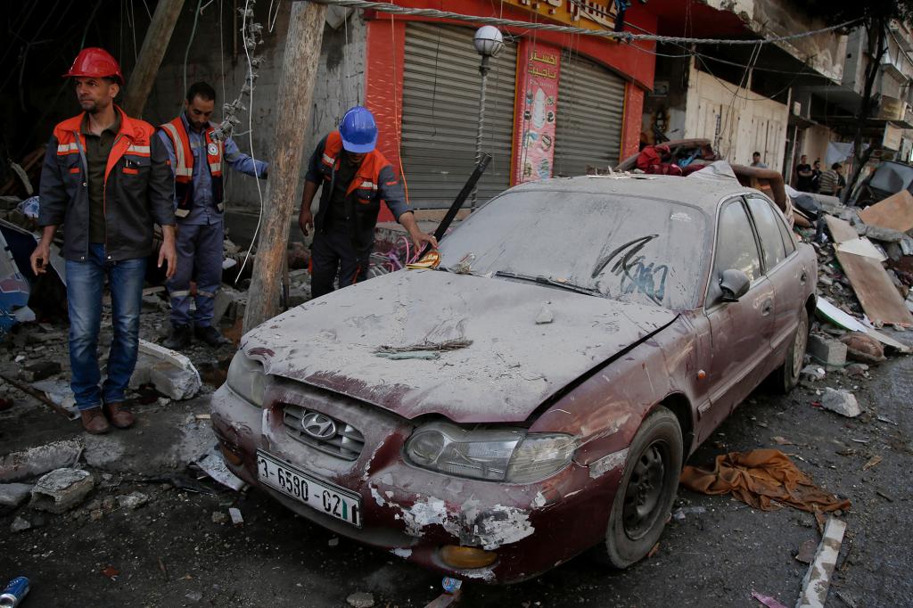
<instances>
[{"instance_id":1,"label":"man in blue hard hat leaning over the car's hood","mask_svg":"<svg viewBox=\"0 0 913 608\"><path fill-rule=\"evenodd\" d=\"M382 200L416 248L426 243L437 246L434 236L418 229L394 167L375 149L376 143L371 110L355 106L342 118L339 131L320 140L310 156L298 224L305 236L314 229L310 282L314 298L330 293L337 276L342 288L367 274ZM320 208L314 217L310 205L321 184Z\"/></svg>"}]
</instances>

